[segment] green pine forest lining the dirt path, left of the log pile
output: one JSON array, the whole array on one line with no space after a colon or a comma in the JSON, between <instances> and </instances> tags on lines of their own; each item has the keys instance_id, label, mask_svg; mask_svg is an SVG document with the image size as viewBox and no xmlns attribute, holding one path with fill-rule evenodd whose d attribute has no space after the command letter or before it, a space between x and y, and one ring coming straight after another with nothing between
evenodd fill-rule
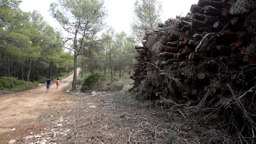
<instances>
[{"instance_id":1,"label":"green pine forest lining the dirt path, left of the log pile","mask_svg":"<svg viewBox=\"0 0 256 144\"><path fill-rule=\"evenodd\" d=\"M111 74L110 80L114 75L121 78L133 71L136 41L127 33L117 33L111 26L106 26L106 10L102 1L81 3L70 9L66 14L68 17L63 17L64 11L58 10L58 6L63 6L58 5L61 1L52 3L49 6L51 15L59 22L63 31L47 24L36 10L22 11L19 8L21 2L3 0L0 4L0 89L11 89L15 83L8 81L19 80L22 80L19 81L22 84L33 82L26 87L29 89L36 83L44 83L47 77L56 79L67 76L76 71L77 67L81 67L81 77L86 73L100 72L103 75ZM64 2L64 8L74 4L72 1ZM88 10L82 9L82 5L93 7L84 15L72 13L73 10ZM93 15L93 12L98 15ZM66 21L68 18L70 22ZM72 36L63 35L63 32ZM76 83L76 76L74 82ZM74 82L73 89L77 85Z\"/></svg>"}]
</instances>

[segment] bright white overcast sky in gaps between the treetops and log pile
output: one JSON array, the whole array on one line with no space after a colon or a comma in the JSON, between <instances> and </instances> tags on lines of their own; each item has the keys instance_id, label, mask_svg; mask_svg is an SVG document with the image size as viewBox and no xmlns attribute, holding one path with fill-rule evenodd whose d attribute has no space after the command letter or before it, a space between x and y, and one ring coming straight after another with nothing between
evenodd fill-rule
<instances>
[{"instance_id":1,"label":"bright white overcast sky in gaps between the treetops and log pile","mask_svg":"<svg viewBox=\"0 0 256 144\"><path fill-rule=\"evenodd\" d=\"M105 0L105 7L108 10L108 17L106 18L107 25L112 26L116 32L125 31L130 34L130 24L133 20L133 8L135 0ZM162 22L168 18L175 18L176 15L186 15L191 7L191 4L197 3L198 0L160 0L163 8L161 14ZM58 30L60 26L49 13L50 3L57 2L57 0L23 0L20 8L25 11L39 11L44 17L45 21L50 26Z\"/></svg>"}]
</instances>

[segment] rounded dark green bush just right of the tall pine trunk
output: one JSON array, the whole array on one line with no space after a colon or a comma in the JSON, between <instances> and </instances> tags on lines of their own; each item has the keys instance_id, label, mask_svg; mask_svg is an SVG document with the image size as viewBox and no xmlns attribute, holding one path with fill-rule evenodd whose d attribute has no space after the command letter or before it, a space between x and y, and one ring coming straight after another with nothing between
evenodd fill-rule
<instances>
[{"instance_id":1,"label":"rounded dark green bush just right of the tall pine trunk","mask_svg":"<svg viewBox=\"0 0 256 144\"><path fill-rule=\"evenodd\" d=\"M95 74L91 74L84 79L81 91L86 92L87 90L102 88L104 85L104 81L106 81L104 75L98 72Z\"/></svg>"}]
</instances>

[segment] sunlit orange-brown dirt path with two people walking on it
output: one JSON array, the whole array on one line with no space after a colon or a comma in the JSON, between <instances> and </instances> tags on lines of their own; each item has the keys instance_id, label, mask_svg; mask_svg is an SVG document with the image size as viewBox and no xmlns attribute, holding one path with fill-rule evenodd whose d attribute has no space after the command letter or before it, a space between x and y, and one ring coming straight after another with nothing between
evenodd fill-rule
<instances>
[{"instance_id":1,"label":"sunlit orange-brown dirt path with two people walking on it","mask_svg":"<svg viewBox=\"0 0 256 144\"><path fill-rule=\"evenodd\" d=\"M50 93L46 93L46 86L41 86L0 95L0 143L6 142L5 137L12 132L10 129L36 122L43 111L57 109L63 103L67 103L64 88L69 86L72 79L73 74L63 79L58 90L55 89L56 84L53 82Z\"/></svg>"}]
</instances>

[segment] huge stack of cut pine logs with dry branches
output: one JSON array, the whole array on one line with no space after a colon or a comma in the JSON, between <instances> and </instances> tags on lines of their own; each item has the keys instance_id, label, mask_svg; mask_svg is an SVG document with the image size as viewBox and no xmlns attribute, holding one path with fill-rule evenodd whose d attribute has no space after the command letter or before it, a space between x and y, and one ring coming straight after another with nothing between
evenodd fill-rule
<instances>
[{"instance_id":1,"label":"huge stack of cut pine logs with dry branches","mask_svg":"<svg viewBox=\"0 0 256 144\"><path fill-rule=\"evenodd\" d=\"M147 31L143 46L135 47L131 79L138 95L193 108L179 109L182 117L196 111L228 123L223 127L236 121L228 133L254 143L255 8L254 0L199 0L185 17Z\"/></svg>"}]
</instances>

